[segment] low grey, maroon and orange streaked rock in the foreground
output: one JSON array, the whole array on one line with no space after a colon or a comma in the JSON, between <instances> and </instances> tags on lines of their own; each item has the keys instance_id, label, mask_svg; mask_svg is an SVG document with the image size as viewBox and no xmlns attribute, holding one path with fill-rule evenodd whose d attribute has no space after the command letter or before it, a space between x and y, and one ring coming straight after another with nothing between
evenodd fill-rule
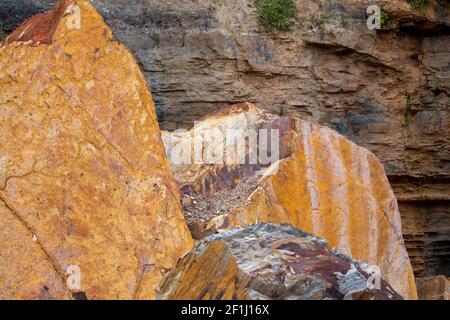
<instances>
[{"instance_id":1,"label":"low grey, maroon and orange streaked rock in the foreground","mask_svg":"<svg viewBox=\"0 0 450 320\"><path fill-rule=\"evenodd\" d=\"M201 241L158 295L205 300L400 300L367 265L288 225L260 223ZM201 277L197 276L202 274ZM372 277L372 278L371 278ZM377 282L377 283L375 283Z\"/></svg>"}]
</instances>

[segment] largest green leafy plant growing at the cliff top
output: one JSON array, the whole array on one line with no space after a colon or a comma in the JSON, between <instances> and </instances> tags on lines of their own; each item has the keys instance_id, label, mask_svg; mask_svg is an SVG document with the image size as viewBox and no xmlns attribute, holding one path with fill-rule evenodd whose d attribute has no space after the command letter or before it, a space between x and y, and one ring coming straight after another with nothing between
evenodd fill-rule
<instances>
[{"instance_id":1,"label":"largest green leafy plant growing at the cliff top","mask_svg":"<svg viewBox=\"0 0 450 320\"><path fill-rule=\"evenodd\" d=\"M297 18L294 0L255 0L261 23L277 30L289 30Z\"/></svg>"}]
</instances>

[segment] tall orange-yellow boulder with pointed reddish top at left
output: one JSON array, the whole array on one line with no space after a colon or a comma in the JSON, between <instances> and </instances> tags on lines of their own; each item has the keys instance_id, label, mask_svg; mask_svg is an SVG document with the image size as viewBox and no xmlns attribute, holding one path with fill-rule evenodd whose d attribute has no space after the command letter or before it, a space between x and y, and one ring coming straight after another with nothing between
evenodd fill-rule
<instances>
[{"instance_id":1,"label":"tall orange-yellow boulder with pointed reddish top at left","mask_svg":"<svg viewBox=\"0 0 450 320\"><path fill-rule=\"evenodd\" d=\"M60 1L0 47L0 92L0 299L154 298L192 239L131 53Z\"/></svg>"}]
</instances>

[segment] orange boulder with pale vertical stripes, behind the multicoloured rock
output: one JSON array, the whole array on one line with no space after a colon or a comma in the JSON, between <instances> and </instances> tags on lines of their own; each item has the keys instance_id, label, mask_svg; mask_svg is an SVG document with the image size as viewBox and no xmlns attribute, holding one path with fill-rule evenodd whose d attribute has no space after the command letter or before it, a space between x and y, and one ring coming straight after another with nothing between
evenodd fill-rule
<instances>
[{"instance_id":1,"label":"orange boulder with pale vertical stripes, behind the multicoloured rock","mask_svg":"<svg viewBox=\"0 0 450 320\"><path fill-rule=\"evenodd\" d=\"M203 143L197 137L243 128L278 130L280 161L264 165L259 159L255 166L250 161L230 165L203 158L206 161L197 164L193 157L193 165L173 164L194 236L204 235L198 232L199 220L208 225L206 234L257 222L290 223L327 239L346 255L380 266L397 292L416 298L396 198L383 166L366 149L328 128L271 115L248 103L206 118L191 131L164 133L163 138L174 162L183 145L195 145L202 155L208 150L220 154L221 148L227 153L229 145L246 141L245 130L236 131L235 140L225 133L223 140L218 136ZM262 146L259 141L257 148ZM252 145L247 150L246 159Z\"/></svg>"}]
</instances>

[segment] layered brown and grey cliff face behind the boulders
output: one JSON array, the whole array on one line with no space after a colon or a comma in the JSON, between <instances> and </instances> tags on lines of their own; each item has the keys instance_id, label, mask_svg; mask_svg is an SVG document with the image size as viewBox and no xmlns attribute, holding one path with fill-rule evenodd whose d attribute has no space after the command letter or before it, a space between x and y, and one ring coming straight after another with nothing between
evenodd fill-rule
<instances>
[{"instance_id":1,"label":"layered brown and grey cliff face behind the boulders","mask_svg":"<svg viewBox=\"0 0 450 320\"><path fill-rule=\"evenodd\" d=\"M1 26L54 2L1 0ZM252 0L92 3L137 56L164 129L244 100L336 129L382 160L416 275L449 275L448 1L298 0L289 32L262 27ZM389 13L383 30L367 29L370 4Z\"/></svg>"}]
</instances>

